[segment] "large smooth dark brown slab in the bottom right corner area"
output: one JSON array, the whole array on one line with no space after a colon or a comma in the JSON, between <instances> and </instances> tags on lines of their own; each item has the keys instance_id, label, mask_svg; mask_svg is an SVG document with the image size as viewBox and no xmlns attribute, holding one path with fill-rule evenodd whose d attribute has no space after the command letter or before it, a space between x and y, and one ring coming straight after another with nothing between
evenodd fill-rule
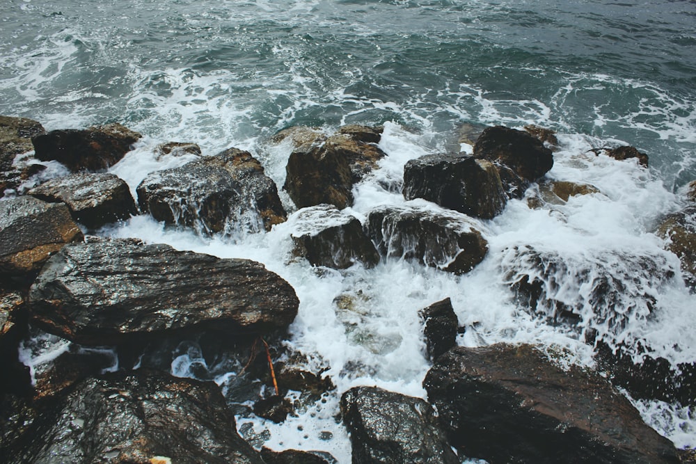
<instances>
[{"instance_id":1,"label":"large smooth dark brown slab in the bottom right corner area","mask_svg":"<svg viewBox=\"0 0 696 464\"><path fill-rule=\"evenodd\" d=\"M490 463L678 463L606 379L529 345L454 348L423 382L450 443Z\"/></svg>"}]
</instances>

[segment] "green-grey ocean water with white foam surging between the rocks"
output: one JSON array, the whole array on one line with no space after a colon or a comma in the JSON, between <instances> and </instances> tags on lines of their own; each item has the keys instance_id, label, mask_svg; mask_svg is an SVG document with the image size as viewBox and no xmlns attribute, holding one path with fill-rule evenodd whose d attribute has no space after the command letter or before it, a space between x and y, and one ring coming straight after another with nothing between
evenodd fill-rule
<instances>
[{"instance_id":1,"label":"green-grey ocean water with white foam surging between the rocks","mask_svg":"<svg viewBox=\"0 0 696 464\"><path fill-rule=\"evenodd\" d=\"M383 125L379 147L388 154L354 189L345 212L361 220L378 205L404 204L384 186L402 181L409 159L467 150L457 143L464 124L553 129L560 150L547 177L599 189L541 209L512 200L500 216L478 221L489 254L461 276L396 258L374 269L316 269L290 259L292 222L200 237L137 216L101 230L255 259L296 289L301 305L287 346L338 388L282 424L238 417L238 429L253 429L267 447L350 462L334 419L340 393L379 385L425 397L418 310L446 297L466 327L458 339L465 346L534 343L592 366L583 338L592 329L616 344L644 340L674 365L696 360L695 298L653 233L686 205L684 188L696 179L694 0L4 0L0 50L0 114L47 130L120 122L143 134L110 169L134 193L147 173L189 161L158 161L154 148L168 141L198 143L205 155L248 150L280 189L290 147L269 144L270 136L351 123ZM618 145L647 153L649 169L590 152ZM521 247L567 264L553 275L562 282L556 296L578 308L582 330L516 303L509 279L524 269L514 253ZM677 275L633 278L641 257ZM618 326L598 321L584 285L608 269L626 299L654 296L651 310L626 312ZM346 295L361 304L338 307ZM191 375L191 362L177 358L173 373ZM223 390L229 375L219 373ZM675 445L696 447L692 408L634 403Z\"/></svg>"}]
</instances>

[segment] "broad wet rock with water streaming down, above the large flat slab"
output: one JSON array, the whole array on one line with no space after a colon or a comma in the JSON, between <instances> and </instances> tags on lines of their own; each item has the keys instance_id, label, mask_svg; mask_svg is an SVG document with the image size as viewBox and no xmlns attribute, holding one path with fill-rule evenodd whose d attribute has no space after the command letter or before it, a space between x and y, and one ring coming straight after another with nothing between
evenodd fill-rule
<instances>
[{"instance_id":1,"label":"broad wet rock with water streaming down, above the large flat slab","mask_svg":"<svg viewBox=\"0 0 696 464\"><path fill-rule=\"evenodd\" d=\"M150 173L137 193L143 212L205 234L271 230L286 217L261 163L236 148Z\"/></svg>"}]
</instances>

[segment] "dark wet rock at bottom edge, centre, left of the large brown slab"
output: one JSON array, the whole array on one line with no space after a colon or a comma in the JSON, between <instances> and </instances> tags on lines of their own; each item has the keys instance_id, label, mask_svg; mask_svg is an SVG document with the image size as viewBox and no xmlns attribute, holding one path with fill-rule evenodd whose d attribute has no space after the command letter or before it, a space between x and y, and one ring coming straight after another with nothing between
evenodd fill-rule
<instances>
[{"instance_id":1,"label":"dark wet rock at bottom edge, centre, left of the large brown slab","mask_svg":"<svg viewBox=\"0 0 696 464\"><path fill-rule=\"evenodd\" d=\"M354 387L341 397L353 463L459 463L432 406L377 387Z\"/></svg>"}]
</instances>

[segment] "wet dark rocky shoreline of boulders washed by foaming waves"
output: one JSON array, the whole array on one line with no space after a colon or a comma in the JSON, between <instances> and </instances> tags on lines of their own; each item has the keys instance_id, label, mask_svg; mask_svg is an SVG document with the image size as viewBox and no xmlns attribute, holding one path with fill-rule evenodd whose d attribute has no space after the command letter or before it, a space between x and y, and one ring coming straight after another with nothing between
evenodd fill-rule
<instances>
[{"instance_id":1,"label":"wet dark rocky shoreline of boulders washed by foaming waves","mask_svg":"<svg viewBox=\"0 0 696 464\"><path fill-rule=\"evenodd\" d=\"M377 146L380 127L349 125L334 134L291 127L271 138L292 145L282 188L298 209L285 211L276 184L243 150L203 157L195 144L164 145L162 156L183 152L197 159L150 173L133 198L122 179L104 171L140 134L121 125L46 132L39 122L0 117L0 461L333 462L325 453L259 450L236 431L235 414L253 411L274 422L292 415L299 405L285 397L288 390L311 402L335 388L321 372L296 367L299 353L283 346L299 306L290 284L246 259L104 239L95 231L136 214L203 235L263 233L289 221L294 254L313 266L370 268L400 257L462 274L487 255L480 221L524 198L530 186L539 191L526 197L532 208L601 194L544 177L557 145L551 131L464 129L461 141L472 145L471 154L411 160L403 185L390 186L406 200L427 200L446 212L411 202L376 207L361 223L342 210L354 201L353 186L385 156ZM634 147L593 151L647 168L647 155ZM70 174L42 178L41 161L49 160ZM679 271L695 290L695 200L693 182L690 206L665 216L654 231L668 239L681 270L660 257L615 259L635 263L642 280L667 280ZM555 299L538 278L570 272L568 264L531 247L507 253L507 283L521 306L576 323L576 308ZM649 289L624 295L612 269L594 271L601 275L592 288L601 323L622 323L626 314L614 312L611 302L624 297L637 302L631 311L649 312ZM636 363L629 355L635 346L610 349L608 340L587 332L605 377L557 367L535 346L455 346L459 328L448 300L421 315L433 361L424 381L428 402L375 387L342 392L354 463L457 463L464 456L493 464L694 462L644 424L617 387L635 398L696 406L696 360L672 367L642 346L643 361ZM38 329L72 344L41 371L30 371L17 352ZM202 359L229 353L229 371L237 375L226 396L203 363L189 372L209 381L170 374L172 353L192 339ZM276 360L275 369L267 358Z\"/></svg>"}]
</instances>

